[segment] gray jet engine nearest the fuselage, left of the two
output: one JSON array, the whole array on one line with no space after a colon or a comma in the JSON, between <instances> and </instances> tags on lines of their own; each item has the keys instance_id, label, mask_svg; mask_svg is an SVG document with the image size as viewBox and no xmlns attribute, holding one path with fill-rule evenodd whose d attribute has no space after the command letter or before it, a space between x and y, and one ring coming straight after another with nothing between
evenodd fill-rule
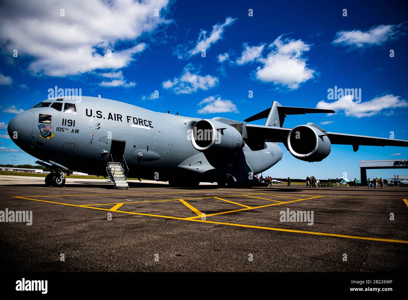
<instances>
[{"instance_id":1,"label":"gray jet engine nearest the fuselage, left of the two","mask_svg":"<svg viewBox=\"0 0 408 300\"><path fill-rule=\"evenodd\" d=\"M194 124L191 131L191 143L201 152L234 150L244 147L244 140L237 129L208 119Z\"/></svg>"}]
</instances>

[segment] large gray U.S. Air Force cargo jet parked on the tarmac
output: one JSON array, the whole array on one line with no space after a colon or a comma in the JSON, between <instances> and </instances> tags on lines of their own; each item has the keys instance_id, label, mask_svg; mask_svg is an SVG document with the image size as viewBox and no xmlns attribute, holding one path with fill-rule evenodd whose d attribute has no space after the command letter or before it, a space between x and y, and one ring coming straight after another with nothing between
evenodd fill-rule
<instances>
[{"instance_id":1,"label":"large gray U.S. Air Force cargo jet parked on the tarmac","mask_svg":"<svg viewBox=\"0 0 408 300\"><path fill-rule=\"evenodd\" d=\"M288 115L334 113L333 110L285 107L272 102L244 122L225 118L191 118L159 113L114 100L81 97L44 100L14 117L9 136L36 163L55 170L47 186L62 187L64 172L107 176L114 187L126 178L169 181L195 187L255 186L255 174L282 158L282 142L297 159L318 162L332 144L404 146L408 141L333 133L313 123L284 128ZM248 122L266 118L265 125Z\"/></svg>"}]
</instances>

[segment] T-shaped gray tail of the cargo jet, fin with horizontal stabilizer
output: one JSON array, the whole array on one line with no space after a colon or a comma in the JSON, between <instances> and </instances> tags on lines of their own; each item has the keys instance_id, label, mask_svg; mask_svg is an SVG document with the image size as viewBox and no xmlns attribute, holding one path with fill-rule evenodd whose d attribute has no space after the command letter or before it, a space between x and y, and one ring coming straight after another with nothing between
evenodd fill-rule
<instances>
[{"instance_id":1,"label":"T-shaped gray tail of the cargo jet, fin with horizontal stabilizer","mask_svg":"<svg viewBox=\"0 0 408 300\"><path fill-rule=\"evenodd\" d=\"M272 102L272 107L245 119L245 122L252 122L266 118L265 126L282 127L288 115L304 115L306 113L334 113L331 109L315 109L305 107L282 106L277 101Z\"/></svg>"}]
</instances>

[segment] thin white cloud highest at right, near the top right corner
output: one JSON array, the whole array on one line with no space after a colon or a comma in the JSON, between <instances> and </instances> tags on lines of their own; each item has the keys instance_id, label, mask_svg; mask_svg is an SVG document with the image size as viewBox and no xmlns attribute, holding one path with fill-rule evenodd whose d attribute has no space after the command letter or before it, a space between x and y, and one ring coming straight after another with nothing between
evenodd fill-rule
<instances>
[{"instance_id":1,"label":"thin white cloud highest at right, near the top right corner","mask_svg":"<svg viewBox=\"0 0 408 300\"><path fill-rule=\"evenodd\" d=\"M403 32L404 23L398 25L378 25L373 26L367 31L350 30L339 31L336 33L333 44L361 48L366 46L380 45L387 40L399 38Z\"/></svg>"}]
</instances>

